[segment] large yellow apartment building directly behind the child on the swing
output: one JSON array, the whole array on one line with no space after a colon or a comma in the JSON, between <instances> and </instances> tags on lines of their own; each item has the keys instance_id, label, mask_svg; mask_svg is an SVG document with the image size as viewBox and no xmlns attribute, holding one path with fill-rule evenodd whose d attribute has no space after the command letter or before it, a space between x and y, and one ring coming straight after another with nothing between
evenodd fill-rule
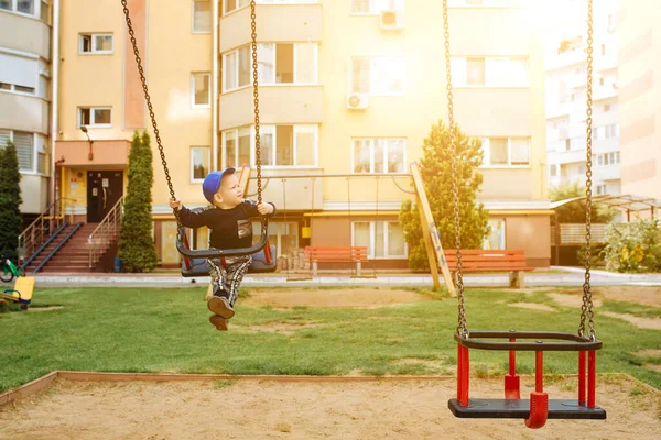
<instances>
[{"instance_id":1,"label":"large yellow apartment building directly behind the child on the swing","mask_svg":"<svg viewBox=\"0 0 661 440\"><path fill-rule=\"evenodd\" d=\"M256 162L249 1L128 3L176 197L204 206L208 172ZM442 2L257 3L263 198L279 208L271 242L279 254L368 245L380 267L405 267L398 211L412 196L397 175L447 118ZM538 3L456 0L449 20L455 119L485 150L486 245L525 249L544 266L552 212ZM61 8L59 190L68 213L96 222L126 190L133 131L151 123L118 2ZM154 175L154 240L162 264L176 265L158 153ZM193 245L206 248L206 238L195 231Z\"/></svg>"}]
</instances>

